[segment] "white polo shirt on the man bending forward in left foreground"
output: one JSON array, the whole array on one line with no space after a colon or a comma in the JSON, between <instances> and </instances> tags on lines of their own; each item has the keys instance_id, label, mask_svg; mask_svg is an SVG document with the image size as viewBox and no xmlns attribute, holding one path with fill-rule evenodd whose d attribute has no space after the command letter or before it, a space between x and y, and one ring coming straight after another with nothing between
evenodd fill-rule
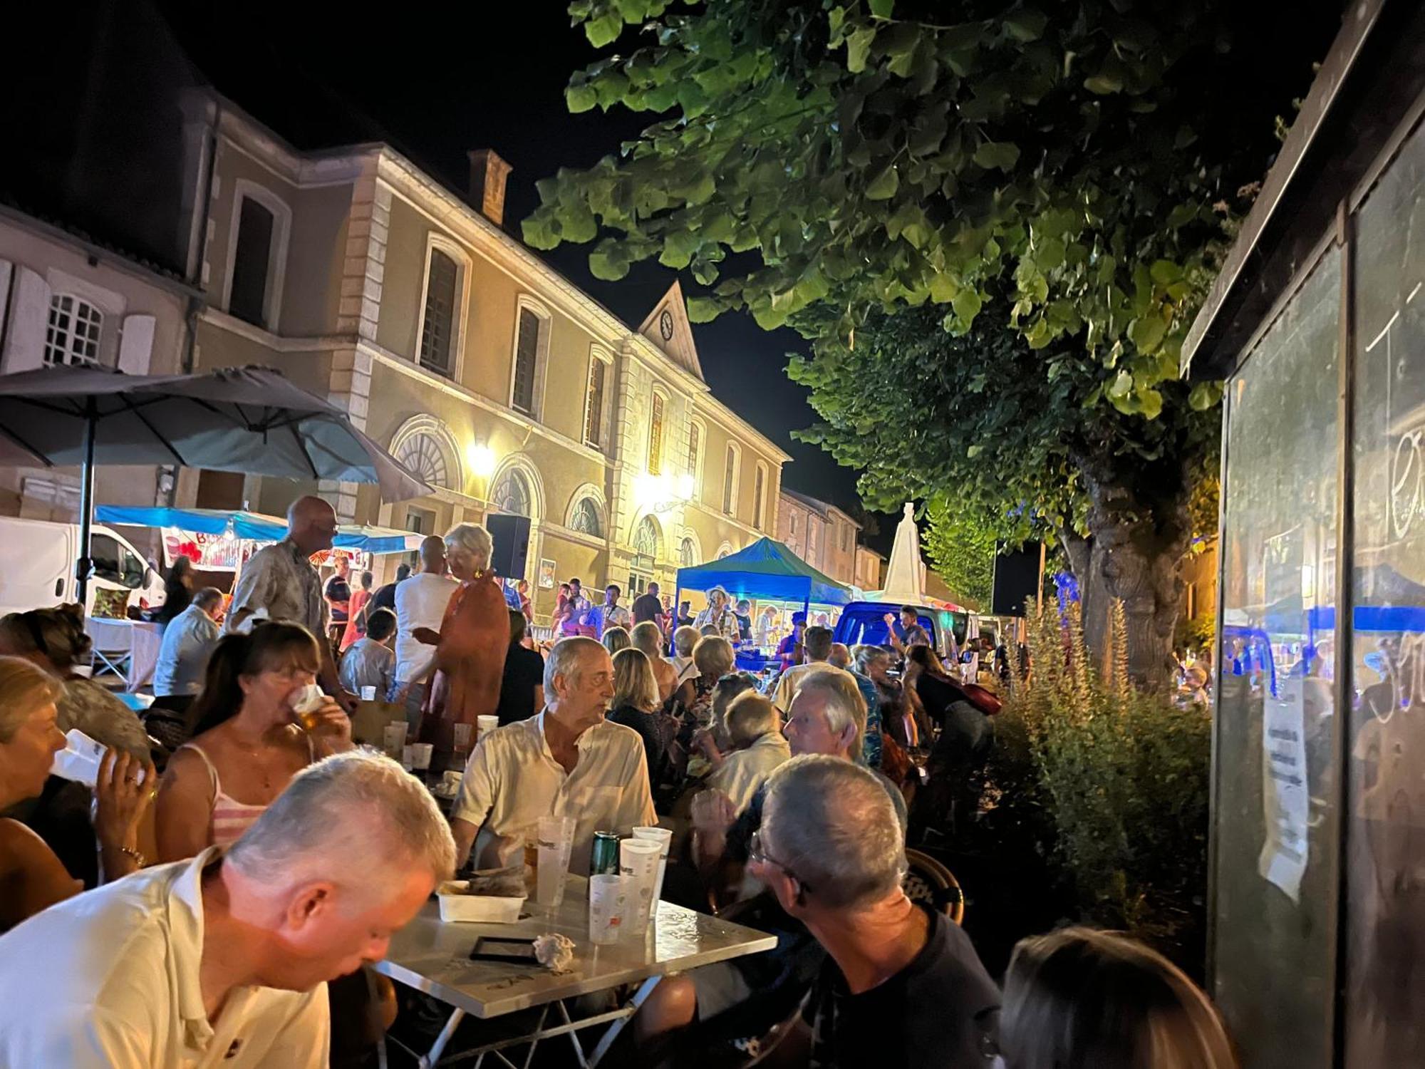
<instances>
[{"instance_id":1,"label":"white polo shirt on the man bending forward in left foreground","mask_svg":"<svg viewBox=\"0 0 1425 1069\"><path fill-rule=\"evenodd\" d=\"M0 936L0 1069L323 1069L326 985L237 988L202 1008L204 865L157 865Z\"/></svg>"}]
</instances>

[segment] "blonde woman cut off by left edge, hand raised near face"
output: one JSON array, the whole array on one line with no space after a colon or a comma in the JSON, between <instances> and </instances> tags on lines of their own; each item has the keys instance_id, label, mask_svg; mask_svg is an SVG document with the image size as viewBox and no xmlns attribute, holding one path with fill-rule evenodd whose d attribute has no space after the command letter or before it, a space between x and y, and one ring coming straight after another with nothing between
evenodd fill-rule
<instances>
[{"instance_id":1,"label":"blonde woman cut off by left edge, hand raised near face","mask_svg":"<svg viewBox=\"0 0 1425 1069\"><path fill-rule=\"evenodd\" d=\"M44 790L54 755L64 748L56 703L64 688L38 666L0 657L0 811ZM104 877L141 868L138 824L152 801L154 767L110 750L98 770L94 834ZM16 820L0 818L0 932L81 891L44 840Z\"/></svg>"}]
</instances>

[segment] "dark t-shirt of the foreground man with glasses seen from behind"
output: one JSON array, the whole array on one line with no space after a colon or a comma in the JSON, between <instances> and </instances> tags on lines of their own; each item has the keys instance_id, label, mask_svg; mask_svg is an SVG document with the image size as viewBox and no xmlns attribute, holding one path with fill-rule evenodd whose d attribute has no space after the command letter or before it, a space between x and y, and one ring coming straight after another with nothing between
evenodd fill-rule
<instances>
[{"instance_id":1,"label":"dark t-shirt of the foreground man with glasses seen from behind","mask_svg":"<svg viewBox=\"0 0 1425 1069\"><path fill-rule=\"evenodd\" d=\"M812 1029L811 1069L989 1069L999 1036L999 988L969 936L929 914L921 952L891 979L852 995L828 958L802 1019Z\"/></svg>"}]
</instances>

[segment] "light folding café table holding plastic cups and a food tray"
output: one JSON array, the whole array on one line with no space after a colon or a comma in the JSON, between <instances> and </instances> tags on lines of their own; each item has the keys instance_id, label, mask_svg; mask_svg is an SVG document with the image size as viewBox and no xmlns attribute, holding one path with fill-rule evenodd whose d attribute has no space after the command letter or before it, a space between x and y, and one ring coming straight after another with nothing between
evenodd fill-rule
<instances>
[{"instance_id":1,"label":"light folding caf\u00e9 table holding plastic cups and a food tray","mask_svg":"<svg viewBox=\"0 0 1425 1069\"><path fill-rule=\"evenodd\" d=\"M658 902L657 918L648 924L643 938L624 935L616 944L594 946L589 942L589 881L570 875L564 901L549 918L530 899L514 924L446 924L440 919L436 901L430 901L416 918L390 939L385 961L375 965L395 981L435 996L452 1008L450 1018L430 1050L420 1058L422 1069L440 1063L446 1045L466 1013L477 1018L497 1018L532 1006L542 1006L534 1028L522 1036L503 1038L484 1046L453 1055L450 1062L475 1059L479 1069L484 1055L493 1053L503 1065L513 1066L502 1050L529 1045L530 1056L542 1039L567 1035L574 1045L579 1065L593 1069L608 1052L628 1018L643 1005L648 993L664 976L700 965L710 965L744 954L770 951L777 938L751 928L728 924L707 914L684 909L671 902ZM574 941L574 961L564 972L550 972L543 965L470 961L469 954L477 936L534 938L546 932L561 932ZM638 991L617 1009L573 1018L567 1001L590 992L607 991L624 983L640 983ZM554 1009L557 1022L550 1028L544 1021ZM580 1029L608 1023L591 1055L586 1055L576 1035ZM529 1060L524 1062L529 1065Z\"/></svg>"}]
</instances>

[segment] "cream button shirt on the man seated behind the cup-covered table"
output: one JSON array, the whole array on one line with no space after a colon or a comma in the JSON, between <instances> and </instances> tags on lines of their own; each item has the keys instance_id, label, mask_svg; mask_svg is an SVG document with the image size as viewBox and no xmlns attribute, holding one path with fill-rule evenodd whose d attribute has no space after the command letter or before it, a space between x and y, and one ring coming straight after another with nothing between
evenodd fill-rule
<instances>
[{"instance_id":1,"label":"cream button shirt on the man seated behind the cup-covered table","mask_svg":"<svg viewBox=\"0 0 1425 1069\"><path fill-rule=\"evenodd\" d=\"M480 737L450 814L480 828L476 868L500 868L519 858L526 830L540 817L574 818L569 871L579 874L589 871L596 831L630 835L636 827L657 824L637 731L606 720L574 745L579 764L564 773L544 738L543 711Z\"/></svg>"}]
</instances>

